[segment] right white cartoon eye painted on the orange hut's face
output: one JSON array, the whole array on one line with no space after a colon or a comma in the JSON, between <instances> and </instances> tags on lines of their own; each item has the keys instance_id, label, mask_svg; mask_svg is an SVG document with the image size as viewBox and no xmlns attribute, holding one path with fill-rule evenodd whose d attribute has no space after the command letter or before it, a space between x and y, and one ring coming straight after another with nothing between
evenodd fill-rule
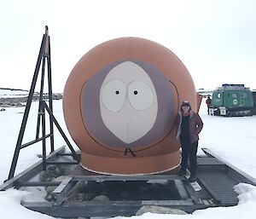
<instances>
[{"instance_id":1,"label":"right white cartoon eye painted on the orange hut's face","mask_svg":"<svg viewBox=\"0 0 256 219\"><path fill-rule=\"evenodd\" d=\"M154 101L152 89L141 81L129 84L128 95L131 106L137 110L148 109Z\"/></svg>"}]
</instances>

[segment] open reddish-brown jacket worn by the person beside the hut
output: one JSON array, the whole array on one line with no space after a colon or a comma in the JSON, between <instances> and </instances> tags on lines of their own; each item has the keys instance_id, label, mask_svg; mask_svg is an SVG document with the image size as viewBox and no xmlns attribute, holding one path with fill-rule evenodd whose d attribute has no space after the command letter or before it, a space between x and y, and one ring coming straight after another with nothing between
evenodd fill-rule
<instances>
[{"instance_id":1,"label":"open reddish-brown jacket worn by the person beside the hut","mask_svg":"<svg viewBox=\"0 0 256 219\"><path fill-rule=\"evenodd\" d=\"M201 117L198 115L198 113L193 112L192 110L190 110L189 112L190 112L189 135L190 135L191 144L193 144L199 140L198 134L201 132L204 124L201 120ZM181 134L181 123L182 123L182 112L178 112L178 114L177 114L178 129L177 129L176 138L178 138L179 135Z\"/></svg>"}]
</instances>

